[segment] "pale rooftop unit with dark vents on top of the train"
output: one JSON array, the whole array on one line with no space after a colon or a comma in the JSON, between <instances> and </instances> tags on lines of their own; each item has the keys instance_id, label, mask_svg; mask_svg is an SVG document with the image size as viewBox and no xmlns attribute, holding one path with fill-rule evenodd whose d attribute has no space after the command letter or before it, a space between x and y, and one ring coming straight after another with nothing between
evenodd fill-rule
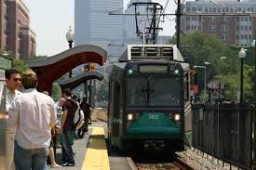
<instances>
[{"instance_id":1,"label":"pale rooftop unit with dark vents on top of the train","mask_svg":"<svg viewBox=\"0 0 256 170\"><path fill-rule=\"evenodd\" d=\"M118 59L119 62L142 60L184 61L176 45L128 45Z\"/></svg>"}]
</instances>

